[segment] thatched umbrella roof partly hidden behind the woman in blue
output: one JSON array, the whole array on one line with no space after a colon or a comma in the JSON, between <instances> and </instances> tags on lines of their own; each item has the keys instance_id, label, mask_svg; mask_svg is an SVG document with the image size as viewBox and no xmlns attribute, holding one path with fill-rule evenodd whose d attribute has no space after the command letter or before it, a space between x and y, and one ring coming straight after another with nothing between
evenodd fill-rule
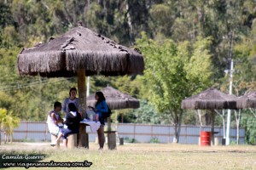
<instances>
[{"instance_id":1,"label":"thatched umbrella roof partly hidden behind the woman in blue","mask_svg":"<svg viewBox=\"0 0 256 170\"><path fill-rule=\"evenodd\" d=\"M129 94L123 94L119 90L107 87L102 88L102 93L104 94L106 98L106 102L108 104L108 107L113 110L119 110L119 109L127 109L127 108L139 108L140 103L138 99L135 99L131 97ZM87 105L89 106L95 106L96 99L95 94L92 94L87 97L86 99Z\"/></svg>"}]
</instances>

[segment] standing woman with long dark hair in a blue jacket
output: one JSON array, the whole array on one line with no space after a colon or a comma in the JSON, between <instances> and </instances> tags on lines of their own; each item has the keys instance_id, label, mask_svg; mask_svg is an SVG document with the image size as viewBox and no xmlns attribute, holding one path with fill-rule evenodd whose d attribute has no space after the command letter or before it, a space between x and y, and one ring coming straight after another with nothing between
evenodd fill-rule
<instances>
[{"instance_id":1,"label":"standing woman with long dark hair in a blue jacket","mask_svg":"<svg viewBox=\"0 0 256 170\"><path fill-rule=\"evenodd\" d=\"M104 143L105 143L105 136L104 136L104 119L102 118L102 112L108 112L108 105L106 103L105 96L102 92L96 92L95 94L95 99L96 99L96 105L95 108L90 107L93 109L96 114L99 114L99 122L101 122L101 127L97 130L98 133L98 139L99 139L99 144L100 144L100 149L103 150Z\"/></svg>"}]
</instances>

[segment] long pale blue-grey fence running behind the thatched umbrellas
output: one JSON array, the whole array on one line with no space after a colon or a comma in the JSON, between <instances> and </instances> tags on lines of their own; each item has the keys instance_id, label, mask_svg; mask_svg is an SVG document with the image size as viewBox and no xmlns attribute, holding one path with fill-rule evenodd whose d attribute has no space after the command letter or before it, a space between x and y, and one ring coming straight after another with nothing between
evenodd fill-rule
<instances>
[{"instance_id":1,"label":"long pale blue-grey fence running behind the thatched umbrellas","mask_svg":"<svg viewBox=\"0 0 256 170\"><path fill-rule=\"evenodd\" d=\"M140 143L148 143L152 139L157 139L160 143L172 143L174 128L172 125L150 125L137 123L118 123L112 124L116 127L119 138L135 139ZM201 131L211 131L211 127L187 126L181 127L179 138L180 144L198 144ZM215 137L219 143L223 138L223 128L215 127ZM89 140L95 141L96 133L90 132L90 127L86 127L86 132L89 133ZM245 129L239 129L240 139L239 144L245 143ZM1 132L3 138L3 132ZM49 141L50 134L45 122L20 122L20 127L15 128L14 140L32 140L32 141ZM236 141L236 128L230 128L230 141Z\"/></svg>"}]
</instances>

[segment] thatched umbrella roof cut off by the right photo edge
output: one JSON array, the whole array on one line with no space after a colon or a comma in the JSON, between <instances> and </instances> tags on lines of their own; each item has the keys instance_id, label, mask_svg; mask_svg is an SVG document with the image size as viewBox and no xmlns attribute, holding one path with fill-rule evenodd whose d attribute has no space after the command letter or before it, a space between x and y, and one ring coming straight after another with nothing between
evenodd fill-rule
<instances>
[{"instance_id":1,"label":"thatched umbrella roof cut off by the right photo edge","mask_svg":"<svg viewBox=\"0 0 256 170\"><path fill-rule=\"evenodd\" d=\"M237 98L236 107L238 109L256 108L256 91L248 92Z\"/></svg>"}]
</instances>

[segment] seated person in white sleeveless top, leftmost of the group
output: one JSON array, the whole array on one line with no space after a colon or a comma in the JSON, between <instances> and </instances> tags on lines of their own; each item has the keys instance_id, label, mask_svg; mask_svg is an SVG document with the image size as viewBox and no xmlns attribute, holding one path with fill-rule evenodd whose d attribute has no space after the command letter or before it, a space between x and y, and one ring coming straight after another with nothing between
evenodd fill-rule
<instances>
[{"instance_id":1,"label":"seated person in white sleeveless top, leftmost of the group","mask_svg":"<svg viewBox=\"0 0 256 170\"><path fill-rule=\"evenodd\" d=\"M55 136L58 136L58 134L61 132L61 127L59 127L58 123L61 122L63 124L63 119L61 119L60 111L61 111L61 103L56 101L54 104L54 110L49 111L49 114L47 116L49 133Z\"/></svg>"}]
</instances>

